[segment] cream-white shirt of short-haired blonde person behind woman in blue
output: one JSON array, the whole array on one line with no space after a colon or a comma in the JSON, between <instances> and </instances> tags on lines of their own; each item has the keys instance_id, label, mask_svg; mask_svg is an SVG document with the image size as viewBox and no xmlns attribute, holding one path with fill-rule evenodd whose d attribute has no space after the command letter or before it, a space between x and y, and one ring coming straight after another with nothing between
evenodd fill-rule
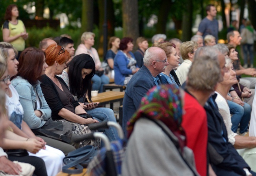
<instances>
[{"instance_id":1,"label":"cream-white shirt of short-haired blonde person behind woman in blue","mask_svg":"<svg viewBox=\"0 0 256 176\"><path fill-rule=\"evenodd\" d=\"M192 62L189 59L185 59L177 68L176 75L180 81L180 85L182 85L187 80L187 73L189 72L191 65Z\"/></svg>"}]
</instances>

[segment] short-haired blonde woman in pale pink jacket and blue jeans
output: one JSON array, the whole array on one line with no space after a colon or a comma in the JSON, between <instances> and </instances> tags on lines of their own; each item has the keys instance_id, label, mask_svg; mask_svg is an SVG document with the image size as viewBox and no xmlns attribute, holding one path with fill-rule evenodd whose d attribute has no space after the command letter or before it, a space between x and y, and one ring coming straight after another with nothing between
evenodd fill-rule
<instances>
[{"instance_id":1,"label":"short-haired blonde woman in pale pink jacket and blue jeans","mask_svg":"<svg viewBox=\"0 0 256 176\"><path fill-rule=\"evenodd\" d=\"M104 74L104 70L101 66L100 57L94 45L95 34L92 32L84 32L81 36L81 44L78 45L75 56L79 54L89 54L95 62L96 72L92 78L93 87L92 90L103 91L103 85L109 83L109 78Z\"/></svg>"}]
</instances>

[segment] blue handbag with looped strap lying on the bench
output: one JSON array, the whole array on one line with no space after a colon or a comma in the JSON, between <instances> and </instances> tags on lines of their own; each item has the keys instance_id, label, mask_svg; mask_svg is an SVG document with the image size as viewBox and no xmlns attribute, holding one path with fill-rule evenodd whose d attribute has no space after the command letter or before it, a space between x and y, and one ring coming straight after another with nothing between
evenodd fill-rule
<instances>
[{"instance_id":1,"label":"blue handbag with looped strap lying on the bench","mask_svg":"<svg viewBox=\"0 0 256 176\"><path fill-rule=\"evenodd\" d=\"M95 156L95 148L91 145L87 145L82 148L78 148L63 158L63 162L67 165L62 167L62 172L68 174L80 174L83 172L83 166L80 163L90 162L92 157ZM72 159L73 158L73 159ZM76 169L70 169L75 167Z\"/></svg>"}]
</instances>

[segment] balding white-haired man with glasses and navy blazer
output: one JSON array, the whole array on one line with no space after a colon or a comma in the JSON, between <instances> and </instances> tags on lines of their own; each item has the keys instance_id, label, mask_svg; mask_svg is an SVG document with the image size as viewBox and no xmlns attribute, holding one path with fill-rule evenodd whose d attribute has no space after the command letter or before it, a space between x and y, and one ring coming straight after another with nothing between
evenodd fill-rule
<instances>
[{"instance_id":1,"label":"balding white-haired man with glasses and navy blazer","mask_svg":"<svg viewBox=\"0 0 256 176\"><path fill-rule=\"evenodd\" d=\"M123 101L123 119L122 128L126 134L126 123L139 108L141 98L147 91L161 84L165 79L158 74L165 71L169 62L165 51L158 47L150 47L145 51L143 66L127 84Z\"/></svg>"}]
</instances>

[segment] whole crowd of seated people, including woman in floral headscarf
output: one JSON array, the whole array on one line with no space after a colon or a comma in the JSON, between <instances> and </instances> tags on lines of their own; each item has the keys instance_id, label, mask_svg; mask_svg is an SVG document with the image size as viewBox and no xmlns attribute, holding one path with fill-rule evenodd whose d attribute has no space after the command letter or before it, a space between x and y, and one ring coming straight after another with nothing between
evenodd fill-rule
<instances>
[{"instance_id":1,"label":"whole crowd of seated people, including woman in floral headscarf","mask_svg":"<svg viewBox=\"0 0 256 176\"><path fill-rule=\"evenodd\" d=\"M91 95L114 78L126 86L123 175L256 175L256 70L241 66L238 31L228 32L228 44L212 35L168 42L156 34L152 46L145 37L113 36L103 59L108 69L94 38L84 32L76 50L70 35L45 38L39 49L24 48L19 61L13 46L0 42L0 170L54 176L69 152L104 147L84 135L88 124L116 123L113 110ZM69 131L68 143L38 133L54 126ZM113 127L98 131L119 139Z\"/></svg>"}]
</instances>

